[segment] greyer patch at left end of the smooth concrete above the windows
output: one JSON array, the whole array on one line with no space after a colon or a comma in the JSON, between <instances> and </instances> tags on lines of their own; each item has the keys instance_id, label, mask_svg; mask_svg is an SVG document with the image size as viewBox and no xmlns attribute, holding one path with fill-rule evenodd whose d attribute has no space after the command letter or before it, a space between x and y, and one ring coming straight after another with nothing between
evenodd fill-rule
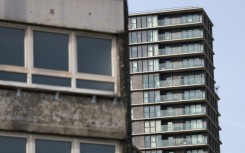
<instances>
[{"instance_id":1,"label":"greyer patch at left end of the smooth concrete above the windows","mask_svg":"<svg viewBox=\"0 0 245 153\"><path fill-rule=\"evenodd\" d=\"M4 0L4 18L26 20L26 0Z\"/></svg>"}]
</instances>

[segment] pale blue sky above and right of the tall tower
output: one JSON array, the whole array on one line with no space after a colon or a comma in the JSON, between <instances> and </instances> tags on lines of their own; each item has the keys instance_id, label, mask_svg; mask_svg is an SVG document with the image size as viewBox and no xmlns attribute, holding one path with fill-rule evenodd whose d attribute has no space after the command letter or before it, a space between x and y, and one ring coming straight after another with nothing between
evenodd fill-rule
<instances>
[{"instance_id":1,"label":"pale blue sky above and right of the tall tower","mask_svg":"<svg viewBox=\"0 0 245 153\"><path fill-rule=\"evenodd\" d=\"M203 7L212 20L215 80L219 88L221 153L244 153L245 0L128 0L129 12ZM244 93L243 93L244 91Z\"/></svg>"}]
</instances>

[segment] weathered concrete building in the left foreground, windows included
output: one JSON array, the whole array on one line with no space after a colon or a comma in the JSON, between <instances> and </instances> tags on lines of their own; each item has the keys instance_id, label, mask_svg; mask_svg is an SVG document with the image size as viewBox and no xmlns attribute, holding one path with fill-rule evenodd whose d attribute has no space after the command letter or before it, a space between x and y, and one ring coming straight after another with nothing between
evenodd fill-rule
<instances>
[{"instance_id":1,"label":"weathered concrete building in the left foreground, windows included","mask_svg":"<svg viewBox=\"0 0 245 153\"><path fill-rule=\"evenodd\" d=\"M0 0L0 152L131 152L126 0Z\"/></svg>"}]
</instances>

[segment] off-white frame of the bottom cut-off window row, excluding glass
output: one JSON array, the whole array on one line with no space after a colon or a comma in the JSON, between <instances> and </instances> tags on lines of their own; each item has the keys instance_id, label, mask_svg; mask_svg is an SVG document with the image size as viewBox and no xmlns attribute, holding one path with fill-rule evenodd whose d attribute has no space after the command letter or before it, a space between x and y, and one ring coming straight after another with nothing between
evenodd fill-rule
<instances>
[{"instance_id":1,"label":"off-white frame of the bottom cut-off window row, excluding glass","mask_svg":"<svg viewBox=\"0 0 245 153\"><path fill-rule=\"evenodd\" d=\"M115 153L121 153L122 148L119 141L113 140L99 140L99 139L83 139L83 138L71 138L62 136L47 136L17 132L0 132L0 137L12 137L12 138L24 138L26 139L26 153L35 153L35 140L47 140L47 141L62 141L71 143L71 153L80 153L80 143L89 143L97 145L110 145L115 146Z\"/></svg>"}]
</instances>

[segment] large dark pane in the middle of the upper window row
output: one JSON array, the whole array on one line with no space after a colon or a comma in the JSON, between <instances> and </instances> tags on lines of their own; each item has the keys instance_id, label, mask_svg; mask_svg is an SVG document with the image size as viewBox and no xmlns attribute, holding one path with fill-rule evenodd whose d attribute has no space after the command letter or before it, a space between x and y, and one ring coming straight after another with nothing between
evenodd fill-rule
<instances>
[{"instance_id":1,"label":"large dark pane in the middle of the upper window row","mask_svg":"<svg viewBox=\"0 0 245 153\"><path fill-rule=\"evenodd\" d=\"M69 36L34 31L34 67L68 71Z\"/></svg>"}]
</instances>

